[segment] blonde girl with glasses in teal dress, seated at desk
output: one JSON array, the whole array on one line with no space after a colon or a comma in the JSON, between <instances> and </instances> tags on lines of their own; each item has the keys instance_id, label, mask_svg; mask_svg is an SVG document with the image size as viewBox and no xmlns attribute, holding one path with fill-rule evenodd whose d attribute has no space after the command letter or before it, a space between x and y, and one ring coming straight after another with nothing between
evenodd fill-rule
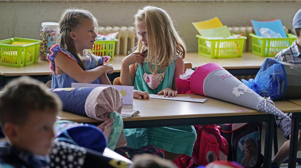
<instances>
[{"instance_id":1,"label":"blonde girl with glasses in teal dress, seated at desk","mask_svg":"<svg viewBox=\"0 0 301 168\"><path fill-rule=\"evenodd\" d=\"M145 6L135 14L138 43L122 61L120 83L150 94L176 96L175 78L184 73L186 48L166 11ZM172 109L170 110L172 113ZM154 145L166 158L191 156L196 131L193 126L125 129L129 146Z\"/></svg>"}]
</instances>

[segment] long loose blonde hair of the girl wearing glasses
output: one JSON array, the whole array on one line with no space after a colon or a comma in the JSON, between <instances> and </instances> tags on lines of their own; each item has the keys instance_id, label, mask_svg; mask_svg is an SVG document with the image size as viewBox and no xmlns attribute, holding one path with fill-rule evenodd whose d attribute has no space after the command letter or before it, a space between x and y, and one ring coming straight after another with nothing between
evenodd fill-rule
<instances>
[{"instance_id":1,"label":"long loose blonde hair of the girl wearing glasses","mask_svg":"<svg viewBox=\"0 0 301 168\"><path fill-rule=\"evenodd\" d=\"M167 12L154 6L144 6L135 14L135 26L143 24L147 32L148 50L138 40L134 50L147 56L147 68L156 74L169 66L171 57L179 55L185 58L186 46L175 30L174 23ZM151 66L154 59L155 66ZM157 61L159 63L157 64ZM136 64L137 67L137 64Z\"/></svg>"}]
</instances>

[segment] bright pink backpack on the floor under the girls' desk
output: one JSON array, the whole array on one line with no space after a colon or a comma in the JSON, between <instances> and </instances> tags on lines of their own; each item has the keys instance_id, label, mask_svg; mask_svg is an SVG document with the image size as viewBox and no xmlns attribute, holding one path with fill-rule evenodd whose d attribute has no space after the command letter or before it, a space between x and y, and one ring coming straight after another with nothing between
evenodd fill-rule
<instances>
[{"instance_id":1,"label":"bright pink backpack on the floor under the girls' desk","mask_svg":"<svg viewBox=\"0 0 301 168\"><path fill-rule=\"evenodd\" d=\"M216 124L195 125L194 128L197 131L197 139L191 157L181 154L173 161L179 168L193 168L216 160L227 160L228 143L221 136Z\"/></svg>"}]
</instances>

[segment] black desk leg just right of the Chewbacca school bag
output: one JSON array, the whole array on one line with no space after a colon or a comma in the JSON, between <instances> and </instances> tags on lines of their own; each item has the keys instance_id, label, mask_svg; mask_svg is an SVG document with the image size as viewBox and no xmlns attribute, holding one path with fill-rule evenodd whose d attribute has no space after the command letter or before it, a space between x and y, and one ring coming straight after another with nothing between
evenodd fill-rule
<instances>
[{"instance_id":1,"label":"black desk leg just right of the Chewbacca school bag","mask_svg":"<svg viewBox=\"0 0 301 168\"><path fill-rule=\"evenodd\" d=\"M264 143L264 158L263 167L271 167L272 162L272 145L273 145L273 130L274 130L274 116L270 115L269 121L265 125L265 143Z\"/></svg>"}]
</instances>

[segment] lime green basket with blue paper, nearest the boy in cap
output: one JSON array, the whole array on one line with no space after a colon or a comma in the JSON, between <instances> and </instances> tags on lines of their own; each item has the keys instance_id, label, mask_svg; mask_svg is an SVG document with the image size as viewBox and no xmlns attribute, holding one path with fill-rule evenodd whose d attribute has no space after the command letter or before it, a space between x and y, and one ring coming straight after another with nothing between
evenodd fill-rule
<instances>
[{"instance_id":1,"label":"lime green basket with blue paper, nearest the boy in cap","mask_svg":"<svg viewBox=\"0 0 301 168\"><path fill-rule=\"evenodd\" d=\"M275 57L281 50L288 48L297 36L287 34L286 38L264 38L250 33L252 37L252 53L261 57Z\"/></svg>"}]
</instances>

